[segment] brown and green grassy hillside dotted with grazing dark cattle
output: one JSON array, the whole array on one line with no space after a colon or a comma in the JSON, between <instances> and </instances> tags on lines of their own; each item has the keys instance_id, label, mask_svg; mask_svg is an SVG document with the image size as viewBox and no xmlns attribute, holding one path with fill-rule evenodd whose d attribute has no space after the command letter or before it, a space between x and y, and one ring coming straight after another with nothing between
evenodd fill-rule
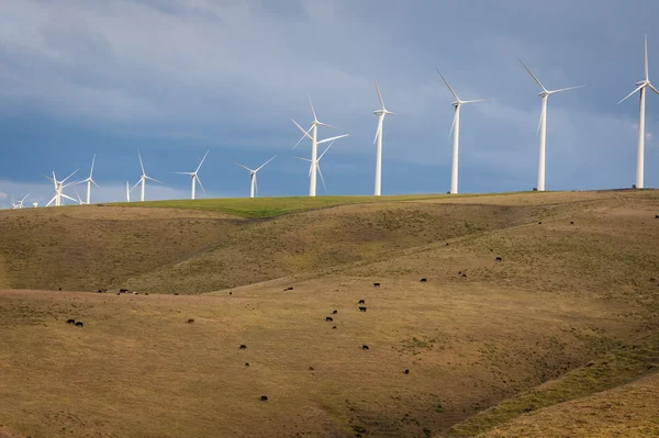
<instances>
[{"instance_id":1,"label":"brown and green grassy hillside dotted with grazing dark cattle","mask_svg":"<svg viewBox=\"0 0 659 438\"><path fill-rule=\"evenodd\" d=\"M658 192L227 202L0 216L11 288L181 294L0 292L0 434L656 431Z\"/></svg>"}]
</instances>

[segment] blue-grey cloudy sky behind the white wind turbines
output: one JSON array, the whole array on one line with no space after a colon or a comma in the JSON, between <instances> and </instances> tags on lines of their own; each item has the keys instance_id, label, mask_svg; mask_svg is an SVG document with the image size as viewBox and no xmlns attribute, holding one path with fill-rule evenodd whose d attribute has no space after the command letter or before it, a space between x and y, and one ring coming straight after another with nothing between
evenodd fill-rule
<instances>
[{"instance_id":1,"label":"blue-grey cloudy sky behind the white wind turbines","mask_svg":"<svg viewBox=\"0 0 659 438\"><path fill-rule=\"evenodd\" d=\"M384 120L382 194L445 193L450 184L453 96L462 106L459 191L530 190L537 181L538 86L585 85L551 96L547 190L635 182L638 98L648 32L659 85L652 0L0 0L0 205L30 192L44 204L55 171L89 176L92 202L125 200L142 171L146 198L309 192L309 98L320 138L349 133L321 161L327 190L372 194L373 136ZM659 96L646 106L645 186L659 187ZM85 198L83 186L66 193ZM138 189L132 198L138 198Z\"/></svg>"}]
</instances>

